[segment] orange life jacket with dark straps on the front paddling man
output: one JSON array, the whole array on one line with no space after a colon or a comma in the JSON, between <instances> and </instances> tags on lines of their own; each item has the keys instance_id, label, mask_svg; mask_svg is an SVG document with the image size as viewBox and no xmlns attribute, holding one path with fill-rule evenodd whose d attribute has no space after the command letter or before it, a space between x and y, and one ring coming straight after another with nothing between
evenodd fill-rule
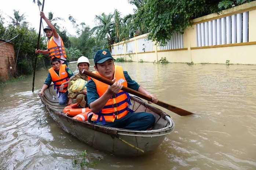
<instances>
[{"instance_id":1,"label":"orange life jacket with dark straps on the front paddling man","mask_svg":"<svg viewBox=\"0 0 256 170\"><path fill-rule=\"evenodd\" d=\"M100 76L99 72L93 72ZM90 77L92 78L92 77ZM88 78L88 80L90 79ZM127 81L124 77L124 72L121 66L115 66L114 68L114 78L117 81L121 82L123 86L127 87ZM107 84L92 78L96 84L96 89L101 97L107 90ZM120 119L124 117L128 112L134 112L132 109L128 108L128 104L131 105L130 96L127 92L120 90L117 94L113 95L98 113L94 113L92 120L102 121L102 124L105 124L106 121L114 122L115 119Z\"/></svg>"}]
</instances>

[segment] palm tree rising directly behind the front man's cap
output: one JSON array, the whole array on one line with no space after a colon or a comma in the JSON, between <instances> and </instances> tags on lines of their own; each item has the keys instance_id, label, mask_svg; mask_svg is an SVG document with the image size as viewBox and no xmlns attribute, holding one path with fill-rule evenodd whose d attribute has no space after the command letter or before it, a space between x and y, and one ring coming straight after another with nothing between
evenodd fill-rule
<instances>
[{"instance_id":1,"label":"palm tree rising directly behind the front man's cap","mask_svg":"<svg viewBox=\"0 0 256 170\"><path fill-rule=\"evenodd\" d=\"M98 26L95 26L91 29L91 32L94 33L96 31L96 41L100 39L107 39L108 45L109 45L109 51L111 52L111 44L114 43L114 22L113 14L109 13L106 15L105 13L102 13L100 15L96 15L95 19L98 20Z\"/></svg>"}]
</instances>

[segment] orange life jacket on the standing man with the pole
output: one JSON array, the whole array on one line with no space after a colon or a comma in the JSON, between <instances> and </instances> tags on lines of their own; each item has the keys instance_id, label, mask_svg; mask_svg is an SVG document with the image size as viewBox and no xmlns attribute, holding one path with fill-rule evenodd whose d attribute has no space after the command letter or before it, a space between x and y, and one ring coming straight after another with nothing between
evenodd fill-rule
<instances>
[{"instance_id":1,"label":"orange life jacket on the standing man with the pole","mask_svg":"<svg viewBox=\"0 0 256 170\"><path fill-rule=\"evenodd\" d=\"M61 39L60 36L59 38ZM47 42L47 49L49 51L49 55L51 59L53 59L54 57L61 59L61 55L67 58L62 39L61 39L61 46L58 46L57 43L54 42L53 36L51 36L51 38Z\"/></svg>"}]
</instances>

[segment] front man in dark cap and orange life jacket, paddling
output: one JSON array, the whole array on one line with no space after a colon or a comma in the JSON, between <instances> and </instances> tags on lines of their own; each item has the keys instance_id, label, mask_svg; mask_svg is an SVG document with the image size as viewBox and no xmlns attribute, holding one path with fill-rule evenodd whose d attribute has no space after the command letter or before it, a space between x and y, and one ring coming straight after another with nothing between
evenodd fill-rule
<instances>
[{"instance_id":1,"label":"front man in dark cap and orange life jacket, paddling","mask_svg":"<svg viewBox=\"0 0 256 170\"><path fill-rule=\"evenodd\" d=\"M109 86L94 78L87 84L89 108L94 112L92 122L109 127L144 131L154 125L155 117L146 112L134 113L128 108L129 94L121 90L122 86L134 89L152 98L157 103L157 96L149 93L131 79L121 66L114 65L114 58L109 50L98 50L94 55L95 74L114 82Z\"/></svg>"}]
</instances>

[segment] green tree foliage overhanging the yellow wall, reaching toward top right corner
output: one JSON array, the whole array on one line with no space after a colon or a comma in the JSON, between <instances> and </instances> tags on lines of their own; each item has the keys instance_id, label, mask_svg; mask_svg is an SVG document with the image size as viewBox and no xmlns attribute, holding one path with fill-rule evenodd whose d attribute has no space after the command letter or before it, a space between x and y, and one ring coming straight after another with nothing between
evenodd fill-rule
<instances>
[{"instance_id":1,"label":"green tree foliage overhanging the yellow wall, reaching toward top right corner","mask_svg":"<svg viewBox=\"0 0 256 170\"><path fill-rule=\"evenodd\" d=\"M194 18L220 12L252 0L130 0L140 4L135 15L148 29L148 38L165 45L173 32L183 34Z\"/></svg>"}]
</instances>

